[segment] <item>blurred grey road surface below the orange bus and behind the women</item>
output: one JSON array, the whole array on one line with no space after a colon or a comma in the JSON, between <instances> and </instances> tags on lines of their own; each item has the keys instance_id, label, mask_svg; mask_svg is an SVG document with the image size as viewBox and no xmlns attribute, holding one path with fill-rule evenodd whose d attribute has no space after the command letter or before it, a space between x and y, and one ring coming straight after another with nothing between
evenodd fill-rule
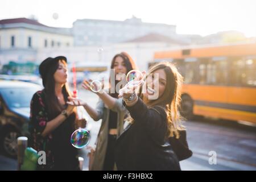
<instances>
[{"instance_id":1,"label":"blurred grey road surface below the orange bus and behind the women","mask_svg":"<svg viewBox=\"0 0 256 182\"><path fill-rule=\"evenodd\" d=\"M81 90L79 96L91 106L96 106L96 94ZM91 126L89 145L92 146L101 122L94 122L91 118L88 120ZM256 170L255 127L205 118L187 121L184 125L193 156L180 162L182 170ZM85 159L84 170L88 170L87 151L82 149L80 153ZM212 154L216 154L216 164L209 162ZM0 155L0 170L16 170L16 160Z\"/></svg>"}]
</instances>

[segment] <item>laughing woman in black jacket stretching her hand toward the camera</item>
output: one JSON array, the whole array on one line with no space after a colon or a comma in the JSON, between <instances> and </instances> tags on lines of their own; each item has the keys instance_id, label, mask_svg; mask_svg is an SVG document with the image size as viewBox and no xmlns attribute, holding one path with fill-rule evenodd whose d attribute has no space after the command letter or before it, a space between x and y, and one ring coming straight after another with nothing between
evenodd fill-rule
<instances>
[{"instance_id":1,"label":"laughing woman in black jacket stretching her hand toward the camera","mask_svg":"<svg viewBox=\"0 0 256 182\"><path fill-rule=\"evenodd\" d=\"M116 143L118 170L180 170L168 138L179 138L183 129L178 114L182 80L174 65L164 62L150 69L143 86L134 81L120 90L130 117Z\"/></svg>"}]
</instances>

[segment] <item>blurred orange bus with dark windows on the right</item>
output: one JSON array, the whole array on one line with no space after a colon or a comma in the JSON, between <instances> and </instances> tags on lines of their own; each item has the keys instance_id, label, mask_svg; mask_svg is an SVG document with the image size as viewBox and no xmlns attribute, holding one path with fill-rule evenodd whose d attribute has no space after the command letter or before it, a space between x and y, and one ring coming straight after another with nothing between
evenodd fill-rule
<instances>
[{"instance_id":1,"label":"blurred orange bus with dark windows on the right","mask_svg":"<svg viewBox=\"0 0 256 182\"><path fill-rule=\"evenodd\" d=\"M181 114L256 124L256 43L155 52L184 77Z\"/></svg>"}]
</instances>

